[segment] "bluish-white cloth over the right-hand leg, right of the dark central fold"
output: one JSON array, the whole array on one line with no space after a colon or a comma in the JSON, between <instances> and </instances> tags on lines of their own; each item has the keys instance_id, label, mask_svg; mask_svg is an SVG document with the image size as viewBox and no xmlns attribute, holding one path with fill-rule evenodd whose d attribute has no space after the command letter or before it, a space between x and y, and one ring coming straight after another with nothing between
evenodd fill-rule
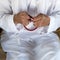
<instances>
[{"instance_id":1,"label":"bluish-white cloth over the right-hand leg, right of the dark central fold","mask_svg":"<svg viewBox=\"0 0 60 60\"><path fill-rule=\"evenodd\" d=\"M60 54L60 43L56 34L49 33L41 37L35 37L35 39L37 39L34 49L36 60L60 60L58 55Z\"/></svg>"}]
</instances>

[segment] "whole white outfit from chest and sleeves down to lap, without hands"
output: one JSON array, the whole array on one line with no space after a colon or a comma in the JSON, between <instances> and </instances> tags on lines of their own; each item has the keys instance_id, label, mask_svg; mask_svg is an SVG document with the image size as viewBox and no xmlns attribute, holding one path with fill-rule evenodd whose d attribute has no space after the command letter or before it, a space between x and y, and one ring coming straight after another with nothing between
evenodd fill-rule
<instances>
[{"instance_id":1,"label":"whole white outfit from chest and sleeves down to lap, without hands","mask_svg":"<svg viewBox=\"0 0 60 60\"><path fill-rule=\"evenodd\" d=\"M55 60L55 56L59 51L59 39L55 34L46 34L44 38L37 31L37 33L35 31L33 32L35 34L34 36L34 34L28 35L31 32L23 30L25 35L22 34L21 26L19 34L15 34L18 30L14 24L13 17L14 14L21 11L26 11L31 16L36 16L40 13L48 15L50 17L50 25L47 32L52 32L60 27L59 0L0 0L0 28L4 29L1 41L3 50L8 52L7 60L33 60L35 54L37 60ZM28 38L29 36L33 37ZM18 37L20 38L17 39Z\"/></svg>"}]
</instances>

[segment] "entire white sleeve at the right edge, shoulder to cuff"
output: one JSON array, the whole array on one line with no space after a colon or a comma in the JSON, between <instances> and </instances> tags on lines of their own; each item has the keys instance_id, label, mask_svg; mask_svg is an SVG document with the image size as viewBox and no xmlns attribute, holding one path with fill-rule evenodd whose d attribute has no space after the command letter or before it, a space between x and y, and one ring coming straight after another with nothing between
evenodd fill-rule
<instances>
[{"instance_id":1,"label":"entire white sleeve at the right edge, shoulder to cuff","mask_svg":"<svg viewBox=\"0 0 60 60\"><path fill-rule=\"evenodd\" d=\"M52 32L60 27L60 0L56 0L54 2L54 6L51 9L49 17L51 21L48 32Z\"/></svg>"}]
</instances>

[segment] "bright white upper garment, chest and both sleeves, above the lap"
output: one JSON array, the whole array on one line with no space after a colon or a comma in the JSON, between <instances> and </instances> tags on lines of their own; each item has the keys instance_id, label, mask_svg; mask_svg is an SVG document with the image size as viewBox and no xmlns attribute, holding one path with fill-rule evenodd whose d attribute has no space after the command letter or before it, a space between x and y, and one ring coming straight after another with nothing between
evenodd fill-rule
<instances>
[{"instance_id":1,"label":"bright white upper garment, chest and both sleeves, above the lap","mask_svg":"<svg viewBox=\"0 0 60 60\"><path fill-rule=\"evenodd\" d=\"M48 32L60 27L60 0L0 0L0 27L8 32L13 31L13 28L14 31L17 31L14 23L12 23L13 16L8 15L14 15L21 11L27 11L33 16L43 13L53 17Z\"/></svg>"}]
</instances>

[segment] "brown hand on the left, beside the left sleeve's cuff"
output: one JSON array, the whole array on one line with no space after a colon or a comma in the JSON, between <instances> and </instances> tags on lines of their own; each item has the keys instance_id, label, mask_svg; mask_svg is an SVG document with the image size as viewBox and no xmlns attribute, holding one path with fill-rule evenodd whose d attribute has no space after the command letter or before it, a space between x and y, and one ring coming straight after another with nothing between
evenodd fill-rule
<instances>
[{"instance_id":1,"label":"brown hand on the left, beside the left sleeve's cuff","mask_svg":"<svg viewBox=\"0 0 60 60\"><path fill-rule=\"evenodd\" d=\"M14 23L15 24L21 23L24 26L26 26L29 24L29 19L30 17L27 14L27 12L20 12L14 16Z\"/></svg>"}]
</instances>

